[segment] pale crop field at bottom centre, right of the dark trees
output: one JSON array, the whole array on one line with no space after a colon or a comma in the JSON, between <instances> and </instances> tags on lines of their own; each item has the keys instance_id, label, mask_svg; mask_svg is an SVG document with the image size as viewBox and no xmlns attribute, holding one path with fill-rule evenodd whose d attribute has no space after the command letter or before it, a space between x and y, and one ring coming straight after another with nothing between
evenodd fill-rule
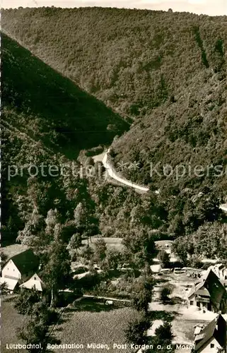
<instances>
[{"instance_id":1,"label":"pale crop field at bottom centre, right of the dark trees","mask_svg":"<svg viewBox=\"0 0 227 353\"><path fill-rule=\"evenodd\" d=\"M113 343L125 343L124 330L134 318L139 318L139 313L130 308L108 308L105 304L83 299L77 310L69 309L64 314L64 322L54 330L54 336L62 344L83 344L83 353L94 352L88 349L88 343L107 344L112 353ZM103 351L95 349L97 353ZM64 352L71 352L71 349L64 349ZM130 350L124 349L124 352L129 353Z\"/></svg>"}]
</instances>

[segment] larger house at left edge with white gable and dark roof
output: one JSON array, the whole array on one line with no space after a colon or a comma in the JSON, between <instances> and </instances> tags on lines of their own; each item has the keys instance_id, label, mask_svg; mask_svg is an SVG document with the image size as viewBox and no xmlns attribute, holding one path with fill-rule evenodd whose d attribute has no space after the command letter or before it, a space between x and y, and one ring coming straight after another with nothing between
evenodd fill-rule
<instances>
[{"instance_id":1,"label":"larger house at left edge with white gable and dark roof","mask_svg":"<svg viewBox=\"0 0 227 353\"><path fill-rule=\"evenodd\" d=\"M6 282L9 292L13 292L22 282L38 269L39 260L32 250L28 249L11 257L1 270L0 282Z\"/></svg>"}]
</instances>

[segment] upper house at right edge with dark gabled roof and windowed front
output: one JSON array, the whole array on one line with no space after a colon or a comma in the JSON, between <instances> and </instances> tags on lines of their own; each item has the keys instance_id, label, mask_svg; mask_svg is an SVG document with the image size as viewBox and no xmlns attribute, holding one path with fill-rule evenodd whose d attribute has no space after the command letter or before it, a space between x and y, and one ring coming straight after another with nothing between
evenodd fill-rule
<instances>
[{"instance_id":1,"label":"upper house at right edge with dark gabled roof and windowed front","mask_svg":"<svg viewBox=\"0 0 227 353\"><path fill-rule=\"evenodd\" d=\"M213 270L207 270L194 283L188 294L188 304L198 306L200 309L226 313L227 292Z\"/></svg>"}]
</instances>

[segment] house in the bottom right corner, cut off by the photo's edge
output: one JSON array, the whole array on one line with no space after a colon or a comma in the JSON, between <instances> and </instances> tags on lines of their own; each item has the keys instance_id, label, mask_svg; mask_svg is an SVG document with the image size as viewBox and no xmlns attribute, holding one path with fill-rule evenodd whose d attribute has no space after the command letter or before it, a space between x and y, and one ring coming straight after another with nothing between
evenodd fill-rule
<instances>
[{"instance_id":1,"label":"house in the bottom right corner, cut off by the photo's edge","mask_svg":"<svg viewBox=\"0 0 227 353\"><path fill-rule=\"evenodd\" d=\"M193 353L226 352L226 320L221 314L204 328L197 328Z\"/></svg>"}]
</instances>

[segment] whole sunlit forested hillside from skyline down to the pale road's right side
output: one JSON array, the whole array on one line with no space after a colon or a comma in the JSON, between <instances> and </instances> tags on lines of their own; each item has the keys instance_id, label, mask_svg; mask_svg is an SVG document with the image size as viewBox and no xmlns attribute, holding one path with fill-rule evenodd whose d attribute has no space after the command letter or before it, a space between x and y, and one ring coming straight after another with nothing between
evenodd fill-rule
<instances>
[{"instance_id":1,"label":"whole sunlit forested hillside from skyline down to the pale road's right side","mask_svg":"<svg viewBox=\"0 0 227 353\"><path fill-rule=\"evenodd\" d=\"M45 63L134 121L113 145L116 166L139 165L139 170L124 170L127 177L152 182L156 189L160 183L165 186L166 178L151 177L150 162L226 166L226 16L21 8L3 11L2 27ZM225 178L214 180L214 173L205 179L187 178L181 184L226 187Z\"/></svg>"}]
</instances>

